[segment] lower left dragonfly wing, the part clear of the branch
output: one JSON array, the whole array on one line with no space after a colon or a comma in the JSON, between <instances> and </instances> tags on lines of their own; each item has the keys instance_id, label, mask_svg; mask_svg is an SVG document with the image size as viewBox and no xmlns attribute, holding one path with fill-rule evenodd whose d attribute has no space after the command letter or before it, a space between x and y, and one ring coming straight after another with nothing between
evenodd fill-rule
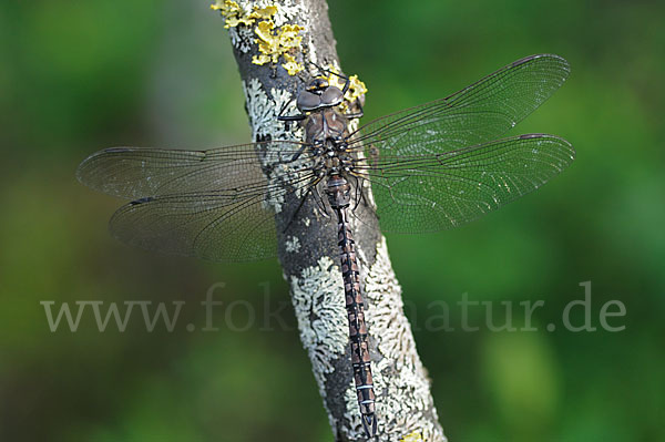
<instances>
[{"instance_id":1,"label":"lower left dragonfly wing, the part clear of the branch","mask_svg":"<svg viewBox=\"0 0 665 442\"><path fill-rule=\"evenodd\" d=\"M213 261L276 255L275 213L262 193L146 197L121 207L110 225L123 243L166 254Z\"/></svg>"}]
</instances>

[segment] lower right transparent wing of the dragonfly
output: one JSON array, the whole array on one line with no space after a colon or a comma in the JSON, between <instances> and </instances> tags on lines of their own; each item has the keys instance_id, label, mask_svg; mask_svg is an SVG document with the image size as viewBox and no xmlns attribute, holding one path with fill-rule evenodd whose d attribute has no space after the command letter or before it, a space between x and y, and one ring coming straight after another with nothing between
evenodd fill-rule
<instances>
[{"instance_id":1,"label":"lower right transparent wing of the dragonfly","mask_svg":"<svg viewBox=\"0 0 665 442\"><path fill-rule=\"evenodd\" d=\"M457 227L546 183L575 156L563 138L530 134L429 156L381 155L356 171L369 179L386 232Z\"/></svg>"}]
</instances>

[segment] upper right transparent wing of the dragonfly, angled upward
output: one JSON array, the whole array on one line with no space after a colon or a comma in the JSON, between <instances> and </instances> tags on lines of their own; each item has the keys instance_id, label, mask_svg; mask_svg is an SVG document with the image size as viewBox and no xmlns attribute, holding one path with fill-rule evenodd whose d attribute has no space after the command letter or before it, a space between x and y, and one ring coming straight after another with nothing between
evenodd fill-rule
<instances>
[{"instance_id":1,"label":"upper right transparent wing of the dragonfly, angled upward","mask_svg":"<svg viewBox=\"0 0 665 442\"><path fill-rule=\"evenodd\" d=\"M408 156L485 143L548 100L569 72L559 55L531 55L446 99L375 120L354 133L350 144Z\"/></svg>"}]
</instances>

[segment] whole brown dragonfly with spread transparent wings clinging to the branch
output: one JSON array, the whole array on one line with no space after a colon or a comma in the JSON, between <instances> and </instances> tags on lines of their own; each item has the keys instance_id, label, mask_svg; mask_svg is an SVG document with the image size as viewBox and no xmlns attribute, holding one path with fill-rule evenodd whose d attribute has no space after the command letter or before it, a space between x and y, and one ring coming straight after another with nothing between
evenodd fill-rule
<instances>
[{"instance_id":1,"label":"whole brown dragonfly with spread transparent wings clinging to the branch","mask_svg":"<svg viewBox=\"0 0 665 442\"><path fill-rule=\"evenodd\" d=\"M566 60L531 55L444 99L379 117L358 130L342 89L323 74L297 95L304 141L274 140L209 151L114 147L85 158L79 181L126 198L111 218L124 243L214 261L277 254L275 216L288 194L335 215L362 426L377 433L360 270L350 216L371 207L383 232L437 232L469 223L566 168L571 144L531 133L501 138L567 79ZM371 187L369 198L367 187ZM297 209L295 210L297 213Z\"/></svg>"}]
</instances>

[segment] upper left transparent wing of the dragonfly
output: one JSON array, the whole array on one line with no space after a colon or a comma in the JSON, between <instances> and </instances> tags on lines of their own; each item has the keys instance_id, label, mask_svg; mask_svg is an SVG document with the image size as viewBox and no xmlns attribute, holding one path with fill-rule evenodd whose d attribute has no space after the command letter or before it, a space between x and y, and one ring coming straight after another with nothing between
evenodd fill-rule
<instances>
[{"instance_id":1,"label":"upper left transparent wing of the dragonfly","mask_svg":"<svg viewBox=\"0 0 665 442\"><path fill-rule=\"evenodd\" d=\"M212 151L113 147L85 158L76 177L96 191L129 199L238 188L252 193L267 185L262 161L286 163L301 147L303 143L288 141Z\"/></svg>"}]
</instances>

